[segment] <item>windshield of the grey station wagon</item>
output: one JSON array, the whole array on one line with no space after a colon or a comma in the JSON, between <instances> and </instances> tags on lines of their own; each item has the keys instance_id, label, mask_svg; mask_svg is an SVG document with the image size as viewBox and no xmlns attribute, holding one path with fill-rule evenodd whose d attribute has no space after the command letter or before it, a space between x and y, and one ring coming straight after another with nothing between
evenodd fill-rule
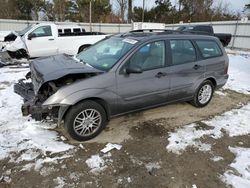
<instances>
[{"instance_id":1,"label":"windshield of the grey station wagon","mask_svg":"<svg viewBox=\"0 0 250 188\"><path fill-rule=\"evenodd\" d=\"M96 69L109 71L135 43L137 41L133 39L111 37L81 52L76 58Z\"/></svg>"}]
</instances>

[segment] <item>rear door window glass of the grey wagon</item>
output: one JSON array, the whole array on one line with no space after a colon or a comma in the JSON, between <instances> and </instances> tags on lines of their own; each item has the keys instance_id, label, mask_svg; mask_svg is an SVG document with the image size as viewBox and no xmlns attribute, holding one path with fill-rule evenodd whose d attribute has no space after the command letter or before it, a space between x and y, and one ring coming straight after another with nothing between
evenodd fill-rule
<instances>
[{"instance_id":1,"label":"rear door window glass of the grey wagon","mask_svg":"<svg viewBox=\"0 0 250 188\"><path fill-rule=\"evenodd\" d=\"M170 47L174 65L196 60L195 48L190 40L170 40Z\"/></svg>"}]
</instances>

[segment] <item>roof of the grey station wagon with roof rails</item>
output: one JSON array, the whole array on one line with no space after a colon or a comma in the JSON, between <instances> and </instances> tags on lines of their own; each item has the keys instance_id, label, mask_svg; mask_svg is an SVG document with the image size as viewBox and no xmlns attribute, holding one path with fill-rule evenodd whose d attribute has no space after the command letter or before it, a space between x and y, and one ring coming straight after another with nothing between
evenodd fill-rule
<instances>
[{"instance_id":1,"label":"roof of the grey station wagon with roof rails","mask_svg":"<svg viewBox=\"0 0 250 188\"><path fill-rule=\"evenodd\" d=\"M114 35L120 38L129 38L137 41L148 41L153 39L208 39L208 40L217 40L214 36L195 34L189 32L179 32L175 30L163 30L163 31L153 31L153 32L144 32L143 30L130 31L127 33Z\"/></svg>"}]
</instances>

